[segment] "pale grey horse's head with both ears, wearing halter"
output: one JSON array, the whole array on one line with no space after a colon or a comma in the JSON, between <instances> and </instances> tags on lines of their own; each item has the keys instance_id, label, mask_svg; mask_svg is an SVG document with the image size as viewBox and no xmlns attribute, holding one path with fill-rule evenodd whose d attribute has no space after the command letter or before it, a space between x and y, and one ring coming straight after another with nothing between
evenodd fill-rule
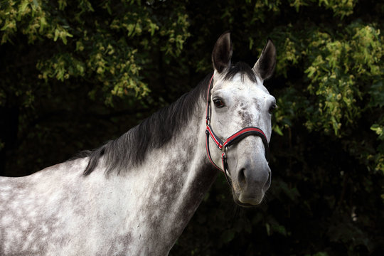
<instances>
[{"instance_id":1,"label":"pale grey horse's head with both ears, wearing halter","mask_svg":"<svg viewBox=\"0 0 384 256\"><path fill-rule=\"evenodd\" d=\"M232 65L231 57L230 33L224 33L212 53L207 151L215 166L223 166L220 169L227 176L235 202L255 206L271 183L268 143L276 100L263 82L274 72L276 49L268 39L253 68L245 63Z\"/></svg>"}]
</instances>

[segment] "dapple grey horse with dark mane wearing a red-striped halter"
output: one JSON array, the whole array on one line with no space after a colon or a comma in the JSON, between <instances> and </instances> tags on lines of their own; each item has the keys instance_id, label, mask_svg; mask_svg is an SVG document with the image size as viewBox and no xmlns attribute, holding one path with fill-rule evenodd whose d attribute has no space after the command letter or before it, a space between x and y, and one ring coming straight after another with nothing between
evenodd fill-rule
<instances>
[{"instance_id":1,"label":"dapple grey horse with dark mane wearing a red-striped halter","mask_svg":"<svg viewBox=\"0 0 384 256\"><path fill-rule=\"evenodd\" d=\"M0 177L0 255L168 255L223 171L235 203L270 187L270 39L251 68L230 33L191 92L92 151L24 177Z\"/></svg>"}]
</instances>

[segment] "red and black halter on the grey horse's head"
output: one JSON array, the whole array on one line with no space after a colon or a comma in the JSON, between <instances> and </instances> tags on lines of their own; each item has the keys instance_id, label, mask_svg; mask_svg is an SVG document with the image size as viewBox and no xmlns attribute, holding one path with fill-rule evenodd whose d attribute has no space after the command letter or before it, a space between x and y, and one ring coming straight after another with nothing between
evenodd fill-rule
<instances>
[{"instance_id":1,"label":"red and black halter on the grey horse's head","mask_svg":"<svg viewBox=\"0 0 384 256\"><path fill-rule=\"evenodd\" d=\"M262 129L257 127L245 127L240 129L240 131L236 132L235 134L228 137L228 139L225 139L223 142L219 137L216 136L216 134L213 132L212 127L210 126L210 89L211 85L213 85L213 75L212 78L210 78L209 84L208 84L208 92L207 92L207 113L206 113L206 149L208 154L209 161L220 171L223 171L225 174L225 178L227 179L230 186L232 186L230 173L228 171L228 164L227 164L227 153L228 153L228 147L240 142L240 140L244 139L247 136L255 135L262 139L262 143L265 147L265 159L267 159L267 162L270 161L270 147L268 146L267 137L265 137L264 132L262 132ZM221 163L223 164L223 169L221 169L218 165L216 165L212 158L210 157L210 151L209 151L209 137L213 139L213 142L215 142L218 149L221 151Z\"/></svg>"}]
</instances>

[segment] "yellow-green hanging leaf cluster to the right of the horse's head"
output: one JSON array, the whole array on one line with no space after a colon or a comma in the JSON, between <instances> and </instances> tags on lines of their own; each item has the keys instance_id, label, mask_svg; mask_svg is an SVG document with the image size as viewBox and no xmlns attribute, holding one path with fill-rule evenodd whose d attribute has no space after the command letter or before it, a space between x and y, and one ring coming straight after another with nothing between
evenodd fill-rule
<instances>
[{"instance_id":1,"label":"yellow-green hanging leaf cluster to the right of the horse's head","mask_svg":"<svg viewBox=\"0 0 384 256\"><path fill-rule=\"evenodd\" d=\"M372 90L366 90L365 84L370 81L379 82L383 75L380 73L383 48L380 43L380 31L373 26L364 26L359 22L351 23L334 34L311 27L311 37L292 43L286 38L281 65L284 61L292 64L304 60L305 73L309 78L307 90L310 95L316 95L318 108L307 109L306 127L309 129L324 129L339 137L343 136L346 127L353 125L361 116L359 101ZM304 55L299 57L300 43L306 43ZM307 62L308 61L308 62ZM279 68L286 75L285 68ZM380 87L380 84L375 84ZM376 96L380 93L376 93Z\"/></svg>"}]
</instances>

